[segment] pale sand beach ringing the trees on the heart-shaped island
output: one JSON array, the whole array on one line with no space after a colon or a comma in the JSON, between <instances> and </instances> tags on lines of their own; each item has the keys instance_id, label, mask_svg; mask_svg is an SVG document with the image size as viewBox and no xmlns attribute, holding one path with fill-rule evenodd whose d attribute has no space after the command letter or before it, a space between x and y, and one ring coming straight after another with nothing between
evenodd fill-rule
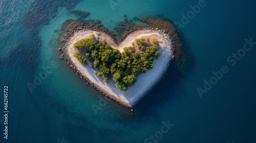
<instances>
[{"instance_id":1,"label":"pale sand beach ringing the trees on the heart-shaped island","mask_svg":"<svg viewBox=\"0 0 256 143\"><path fill-rule=\"evenodd\" d=\"M94 34L95 37L99 39L106 39L106 42L111 44L115 49L118 49L120 52L123 51L123 47L132 46L132 42L136 38L156 38L159 40L159 51L160 56L153 63L153 68L147 70L146 73L139 74L137 76L137 82L134 86L129 87L127 91L122 91L117 89L113 80L109 80L109 83L103 82L103 78L100 78L94 75L94 70L98 72L96 68L91 68L88 64L82 65L79 61L73 57L73 53L76 51L73 48L73 44L83 38L89 37L91 34ZM118 46L113 42L112 37L103 33L95 31L79 31L70 38L69 45L67 46L67 52L75 64L77 70L80 71L83 76L89 78L96 86L99 86L105 92L108 92L110 96L113 96L113 99L119 100L121 103L127 103L128 105L134 106L138 101L148 92L152 87L155 86L165 73L169 61L173 55L172 45L170 44L170 39L166 34L160 32L159 30L143 30L137 31L129 35L120 45Z\"/></svg>"}]
</instances>

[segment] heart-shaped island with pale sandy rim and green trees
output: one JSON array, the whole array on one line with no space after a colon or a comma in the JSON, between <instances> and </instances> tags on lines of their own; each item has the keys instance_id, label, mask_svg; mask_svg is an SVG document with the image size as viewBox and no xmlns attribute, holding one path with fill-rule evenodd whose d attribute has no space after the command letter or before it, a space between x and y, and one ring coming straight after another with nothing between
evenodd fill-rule
<instances>
[{"instance_id":1,"label":"heart-shaped island with pale sandy rim and green trees","mask_svg":"<svg viewBox=\"0 0 256 143\"><path fill-rule=\"evenodd\" d=\"M161 30L139 30L117 44L107 33L80 30L69 38L66 47L76 70L92 85L132 107L167 70L173 57L171 40Z\"/></svg>"}]
</instances>

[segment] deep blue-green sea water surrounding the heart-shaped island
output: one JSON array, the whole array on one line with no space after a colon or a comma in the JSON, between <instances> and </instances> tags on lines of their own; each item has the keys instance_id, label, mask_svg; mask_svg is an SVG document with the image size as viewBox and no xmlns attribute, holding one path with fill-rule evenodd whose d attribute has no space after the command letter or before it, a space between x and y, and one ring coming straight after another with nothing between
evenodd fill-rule
<instances>
[{"instance_id":1,"label":"deep blue-green sea water surrounding the heart-shaped island","mask_svg":"<svg viewBox=\"0 0 256 143\"><path fill-rule=\"evenodd\" d=\"M158 142L255 142L256 44L234 66L235 58L227 61L232 53L243 51L245 39L256 41L255 1L205 1L198 14L180 28L195 59L193 68L186 76L176 77L169 67L164 81L134 113L101 97L58 60L54 30L76 18L69 13L72 6L91 12L87 19L99 19L113 30L124 13L130 19L163 14L181 23L181 14L201 1L113 0L115 6L110 2L0 2L0 142L61 143L62 137L70 142L144 142L167 121L174 126ZM49 21L41 15L31 17L34 29L28 28L23 18L30 10L47 15ZM27 83L43 66L52 67L53 61L58 67L31 93ZM200 98L197 88L204 88L204 79L209 81L212 71L223 65L229 71ZM3 134L4 86L9 89L8 139ZM102 99L107 104L95 112L92 105Z\"/></svg>"}]
</instances>

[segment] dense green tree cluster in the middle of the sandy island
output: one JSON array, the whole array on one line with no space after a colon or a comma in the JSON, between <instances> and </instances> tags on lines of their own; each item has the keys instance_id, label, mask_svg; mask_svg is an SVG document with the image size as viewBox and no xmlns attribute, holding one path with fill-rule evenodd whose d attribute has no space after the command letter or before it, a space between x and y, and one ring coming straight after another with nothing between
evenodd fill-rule
<instances>
[{"instance_id":1,"label":"dense green tree cluster in the middle of the sandy island","mask_svg":"<svg viewBox=\"0 0 256 143\"><path fill-rule=\"evenodd\" d=\"M153 68L153 60L160 56L159 41L153 39L152 43L150 38L135 39L133 46L124 47L124 52L120 53L105 40L96 41L94 35L91 35L90 38L77 41L74 48L83 47L86 50L86 57L92 62L90 66L100 70L98 73L95 71L95 75L104 77L106 83L112 75L115 87L126 91L135 84L138 74ZM81 56L79 52L75 54Z\"/></svg>"}]
</instances>

